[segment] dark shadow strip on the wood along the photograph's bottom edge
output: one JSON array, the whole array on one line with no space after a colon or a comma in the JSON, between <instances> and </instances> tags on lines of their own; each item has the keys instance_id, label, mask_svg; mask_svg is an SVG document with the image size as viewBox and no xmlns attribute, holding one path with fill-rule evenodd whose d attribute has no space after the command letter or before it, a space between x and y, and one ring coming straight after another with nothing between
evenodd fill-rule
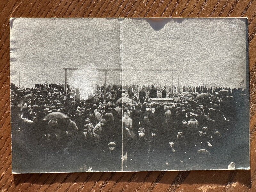
<instances>
[{"instance_id":1,"label":"dark shadow strip on the wood along the photograph's bottom edge","mask_svg":"<svg viewBox=\"0 0 256 192\"><path fill-rule=\"evenodd\" d=\"M112 185L121 183L157 183L179 186L180 184L209 184L234 186L240 183L251 188L250 170L205 170L205 171L151 171L151 172L91 172L91 173L43 173L43 174L14 174L16 185L29 183L51 185L54 183L78 184L108 182ZM87 186L86 184L86 186ZM92 185L93 187L94 185Z\"/></svg>"}]
</instances>

